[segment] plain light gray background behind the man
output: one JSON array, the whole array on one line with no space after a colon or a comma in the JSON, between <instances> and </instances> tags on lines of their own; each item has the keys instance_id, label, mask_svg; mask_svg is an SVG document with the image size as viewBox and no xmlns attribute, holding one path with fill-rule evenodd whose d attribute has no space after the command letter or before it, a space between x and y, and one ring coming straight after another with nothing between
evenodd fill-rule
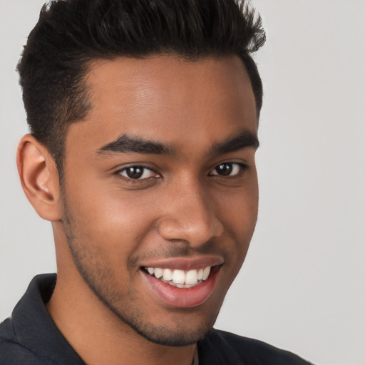
<instances>
[{"instance_id":1,"label":"plain light gray background behind the man","mask_svg":"<svg viewBox=\"0 0 365 365\"><path fill-rule=\"evenodd\" d=\"M55 272L51 225L26 200L27 132L14 71L42 0L0 0L0 320ZM365 1L255 0L267 45L260 204L216 327L317 364L365 364Z\"/></svg>"}]
</instances>

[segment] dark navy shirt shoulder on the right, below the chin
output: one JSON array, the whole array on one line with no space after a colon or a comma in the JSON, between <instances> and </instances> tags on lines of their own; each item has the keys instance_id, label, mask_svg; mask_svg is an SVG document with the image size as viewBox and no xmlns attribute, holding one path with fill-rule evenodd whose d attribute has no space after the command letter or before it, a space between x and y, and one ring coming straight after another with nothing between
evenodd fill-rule
<instances>
[{"instance_id":1,"label":"dark navy shirt shoulder on the right, below the chin","mask_svg":"<svg viewBox=\"0 0 365 365\"><path fill-rule=\"evenodd\" d=\"M212 329L198 343L201 364L309 365L289 351L256 339ZM206 361L207 360L207 361ZM214 362L212 362L214 361Z\"/></svg>"}]
</instances>

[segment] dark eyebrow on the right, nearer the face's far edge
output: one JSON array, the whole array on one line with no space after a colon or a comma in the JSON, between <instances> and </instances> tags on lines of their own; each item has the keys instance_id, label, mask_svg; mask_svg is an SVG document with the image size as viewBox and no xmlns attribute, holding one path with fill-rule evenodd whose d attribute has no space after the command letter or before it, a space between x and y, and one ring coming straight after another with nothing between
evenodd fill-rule
<instances>
[{"instance_id":1,"label":"dark eyebrow on the right, nearer the face's far edge","mask_svg":"<svg viewBox=\"0 0 365 365\"><path fill-rule=\"evenodd\" d=\"M212 145L210 153L212 155L224 155L225 153L243 150L244 148L254 148L255 150L259 148L257 135L249 130L244 130L233 138L228 138L227 140Z\"/></svg>"}]
</instances>

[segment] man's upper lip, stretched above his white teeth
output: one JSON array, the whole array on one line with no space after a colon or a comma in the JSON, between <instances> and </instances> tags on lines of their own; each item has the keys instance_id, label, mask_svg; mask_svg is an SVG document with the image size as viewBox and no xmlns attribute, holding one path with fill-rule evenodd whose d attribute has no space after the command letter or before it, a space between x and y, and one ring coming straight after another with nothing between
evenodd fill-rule
<instances>
[{"instance_id":1,"label":"man's upper lip, stretched above his white teeth","mask_svg":"<svg viewBox=\"0 0 365 365\"><path fill-rule=\"evenodd\" d=\"M220 256L197 256L197 257L171 257L169 259L155 259L144 262L142 267L159 267L160 269L203 269L207 266L217 266L223 264L224 260Z\"/></svg>"}]
</instances>

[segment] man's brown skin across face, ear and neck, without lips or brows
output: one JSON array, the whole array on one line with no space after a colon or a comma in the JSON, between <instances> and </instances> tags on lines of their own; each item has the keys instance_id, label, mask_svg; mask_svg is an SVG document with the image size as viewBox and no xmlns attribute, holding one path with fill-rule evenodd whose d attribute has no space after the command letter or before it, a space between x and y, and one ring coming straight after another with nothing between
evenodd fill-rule
<instances>
[{"instance_id":1,"label":"man's brown skin across face, ear and neck, without lips or brows","mask_svg":"<svg viewBox=\"0 0 365 365\"><path fill-rule=\"evenodd\" d=\"M53 226L58 280L48 311L87 364L191 364L255 230L255 146L212 153L242 132L257 135L250 80L235 56L155 56L94 61L86 82L92 108L68 130L62 187L31 135L18 151L24 191ZM103 150L122 135L173 153ZM234 174L219 175L222 163ZM128 178L136 165L148 168L143 179ZM161 301L141 269L200 257L222 265L195 307Z\"/></svg>"}]
</instances>

